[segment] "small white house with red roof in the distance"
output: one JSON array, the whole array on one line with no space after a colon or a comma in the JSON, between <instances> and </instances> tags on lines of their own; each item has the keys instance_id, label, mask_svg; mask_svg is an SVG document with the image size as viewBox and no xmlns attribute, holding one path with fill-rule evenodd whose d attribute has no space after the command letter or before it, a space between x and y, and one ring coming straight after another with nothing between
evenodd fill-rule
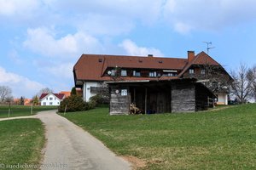
<instances>
[{"instance_id":1,"label":"small white house with red roof in the distance","mask_svg":"<svg viewBox=\"0 0 256 170\"><path fill-rule=\"evenodd\" d=\"M41 105L60 105L65 98L65 94L41 94L39 100Z\"/></svg>"}]
</instances>

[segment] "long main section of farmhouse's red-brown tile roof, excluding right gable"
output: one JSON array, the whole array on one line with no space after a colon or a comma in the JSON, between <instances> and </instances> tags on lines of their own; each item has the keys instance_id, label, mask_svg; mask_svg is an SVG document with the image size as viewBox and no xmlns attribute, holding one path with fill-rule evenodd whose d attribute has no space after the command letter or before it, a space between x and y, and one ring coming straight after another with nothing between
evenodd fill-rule
<instances>
[{"instance_id":1,"label":"long main section of farmhouse's red-brown tile roof, excluding right gable","mask_svg":"<svg viewBox=\"0 0 256 170\"><path fill-rule=\"evenodd\" d=\"M108 67L183 70L186 64L187 59L83 54L73 71L77 80L111 81L111 77L102 77Z\"/></svg>"}]
</instances>

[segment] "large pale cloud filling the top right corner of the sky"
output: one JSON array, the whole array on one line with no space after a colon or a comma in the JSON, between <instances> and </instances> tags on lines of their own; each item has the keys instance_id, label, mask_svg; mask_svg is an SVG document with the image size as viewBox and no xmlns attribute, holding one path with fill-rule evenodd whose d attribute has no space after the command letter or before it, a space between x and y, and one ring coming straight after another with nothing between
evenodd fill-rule
<instances>
[{"instance_id":1,"label":"large pale cloud filling the top right corner of the sky","mask_svg":"<svg viewBox=\"0 0 256 170\"><path fill-rule=\"evenodd\" d=\"M167 0L163 14L174 30L216 31L255 20L254 0Z\"/></svg>"}]
</instances>

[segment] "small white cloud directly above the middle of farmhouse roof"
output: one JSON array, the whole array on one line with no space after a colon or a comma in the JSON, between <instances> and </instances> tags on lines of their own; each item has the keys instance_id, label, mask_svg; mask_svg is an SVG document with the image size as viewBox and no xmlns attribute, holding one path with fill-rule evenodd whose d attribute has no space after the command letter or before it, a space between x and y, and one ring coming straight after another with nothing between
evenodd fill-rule
<instances>
[{"instance_id":1,"label":"small white cloud directly above the middle of farmhouse roof","mask_svg":"<svg viewBox=\"0 0 256 170\"><path fill-rule=\"evenodd\" d=\"M156 57L164 56L159 49L138 47L135 42L132 42L129 39L124 40L121 44L119 44L119 47L124 48L125 52L129 55L147 56L148 54L154 54Z\"/></svg>"}]
</instances>

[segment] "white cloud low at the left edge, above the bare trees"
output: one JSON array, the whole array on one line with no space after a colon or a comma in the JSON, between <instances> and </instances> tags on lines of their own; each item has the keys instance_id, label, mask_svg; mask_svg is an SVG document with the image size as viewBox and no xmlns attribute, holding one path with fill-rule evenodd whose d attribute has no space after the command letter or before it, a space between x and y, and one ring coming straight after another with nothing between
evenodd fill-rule
<instances>
[{"instance_id":1,"label":"white cloud low at the left edge, above the bare trees","mask_svg":"<svg viewBox=\"0 0 256 170\"><path fill-rule=\"evenodd\" d=\"M0 67L0 85L9 86L15 97L25 95L26 98L31 98L32 95L37 94L41 88L44 88L43 84L32 81L27 77L8 72L3 67Z\"/></svg>"}]
</instances>

